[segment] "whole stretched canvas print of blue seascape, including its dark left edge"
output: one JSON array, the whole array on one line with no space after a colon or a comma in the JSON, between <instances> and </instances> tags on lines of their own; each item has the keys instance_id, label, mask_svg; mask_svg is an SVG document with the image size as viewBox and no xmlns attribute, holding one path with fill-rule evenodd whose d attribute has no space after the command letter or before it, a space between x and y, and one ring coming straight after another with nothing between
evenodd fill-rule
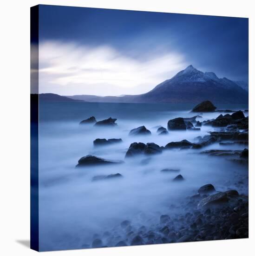
<instances>
[{"instance_id":1,"label":"whole stretched canvas print of blue seascape, including its dark left edge","mask_svg":"<svg viewBox=\"0 0 255 256\"><path fill-rule=\"evenodd\" d=\"M248 237L248 19L31 8L31 248Z\"/></svg>"}]
</instances>

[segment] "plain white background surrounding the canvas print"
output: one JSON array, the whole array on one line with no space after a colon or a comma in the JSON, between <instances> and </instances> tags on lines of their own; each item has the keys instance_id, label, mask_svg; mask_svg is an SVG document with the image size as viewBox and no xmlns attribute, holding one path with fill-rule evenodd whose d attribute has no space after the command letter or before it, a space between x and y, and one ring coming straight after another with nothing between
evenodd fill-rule
<instances>
[{"instance_id":1,"label":"plain white background surrounding the canvas print","mask_svg":"<svg viewBox=\"0 0 255 256\"><path fill-rule=\"evenodd\" d=\"M0 254L35 255L30 236L30 7L55 4L249 18L249 239L46 252L46 255L251 255L254 253L255 6L252 0L3 0L0 6ZM223 170L222 170L223 171ZM253 249L252 249L253 248ZM252 252L253 250L253 252ZM254 254L253 254L254 255Z\"/></svg>"}]
</instances>

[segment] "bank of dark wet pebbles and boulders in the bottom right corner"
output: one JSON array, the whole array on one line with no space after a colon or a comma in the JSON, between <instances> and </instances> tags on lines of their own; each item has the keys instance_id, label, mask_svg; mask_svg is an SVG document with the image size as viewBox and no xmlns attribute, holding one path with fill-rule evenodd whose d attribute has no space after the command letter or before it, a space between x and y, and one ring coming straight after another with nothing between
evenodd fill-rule
<instances>
[{"instance_id":1,"label":"bank of dark wet pebbles and boulders in the bottom right corner","mask_svg":"<svg viewBox=\"0 0 255 256\"><path fill-rule=\"evenodd\" d=\"M150 227L124 220L112 233L106 231L91 247L182 243L248 237L248 197L236 190L217 192L206 184L196 195L161 215ZM175 210L178 213L171 214ZM115 235L113 235L115 234Z\"/></svg>"}]
</instances>

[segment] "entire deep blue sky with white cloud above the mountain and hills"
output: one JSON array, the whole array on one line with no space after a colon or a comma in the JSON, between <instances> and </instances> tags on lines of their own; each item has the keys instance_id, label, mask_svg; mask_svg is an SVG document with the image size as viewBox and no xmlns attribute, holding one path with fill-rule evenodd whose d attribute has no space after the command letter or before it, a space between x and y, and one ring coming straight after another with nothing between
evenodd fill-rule
<instances>
[{"instance_id":1,"label":"entire deep blue sky with white cloud above the mountain and hills","mask_svg":"<svg viewBox=\"0 0 255 256\"><path fill-rule=\"evenodd\" d=\"M248 82L248 19L39 6L39 93L142 94L189 65Z\"/></svg>"}]
</instances>

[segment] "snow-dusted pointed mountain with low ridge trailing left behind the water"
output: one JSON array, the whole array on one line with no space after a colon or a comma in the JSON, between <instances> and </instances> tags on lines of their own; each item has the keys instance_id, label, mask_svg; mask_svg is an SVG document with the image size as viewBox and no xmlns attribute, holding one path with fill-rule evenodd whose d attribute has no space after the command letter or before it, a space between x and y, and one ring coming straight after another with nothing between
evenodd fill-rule
<instances>
[{"instance_id":1,"label":"snow-dusted pointed mountain with low ridge trailing left behind the water","mask_svg":"<svg viewBox=\"0 0 255 256\"><path fill-rule=\"evenodd\" d=\"M75 100L90 102L131 102L131 103L200 103L209 100L214 103L248 103L248 92L236 82L218 78L213 72L197 70L192 65L177 73L169 80L158 84L145 94L124 96L68 96Z\"/></svg>"}]
</instances>

